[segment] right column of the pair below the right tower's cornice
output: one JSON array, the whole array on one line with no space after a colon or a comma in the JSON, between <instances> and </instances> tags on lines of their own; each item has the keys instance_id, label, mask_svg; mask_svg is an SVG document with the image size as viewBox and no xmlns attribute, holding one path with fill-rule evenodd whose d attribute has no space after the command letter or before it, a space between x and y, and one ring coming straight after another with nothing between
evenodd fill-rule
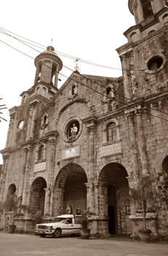
<instances>
[{"instance_id":1,"label":"right column of the pair below the right tower's cornice","mask_svg":"<svg viewBox=\"0 0 168 256\"><path fill-rule=\"evenodd\" d=\"M143 128L143 110L137 110L137 140L140 150L140 162L143 175L148 175L148 159L146 153L145 133Z\"/></svg>"}]
</instances>

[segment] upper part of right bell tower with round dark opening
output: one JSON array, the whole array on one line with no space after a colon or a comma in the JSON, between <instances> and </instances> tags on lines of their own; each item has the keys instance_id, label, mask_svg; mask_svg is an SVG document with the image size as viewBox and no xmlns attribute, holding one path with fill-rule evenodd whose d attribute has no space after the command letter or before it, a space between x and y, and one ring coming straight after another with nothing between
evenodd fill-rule
<instances>
[{"instance_id":1,"label":"upper part of right bell tower with round dark opening","mask_svg":"<svg viewBox=\"0 0 168 256\"><path fill-rule=\"evenodd\" d=\"M168 8L166 0L129 0L135 26L124 32L128 42L117 49L125 100L167 89Z\"/></svg>"}]
</instances>

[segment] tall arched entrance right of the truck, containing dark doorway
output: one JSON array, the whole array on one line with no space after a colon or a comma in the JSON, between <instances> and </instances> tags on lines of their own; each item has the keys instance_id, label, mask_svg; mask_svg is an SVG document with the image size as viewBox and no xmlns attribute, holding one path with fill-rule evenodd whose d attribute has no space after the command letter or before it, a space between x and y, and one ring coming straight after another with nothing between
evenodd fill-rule
<instances>
[{"instance_id":1,"label":"tall arched entrance right of the truck, containing dark doorway","mask_svg":"<svg viewBox=\"0 0 168 256\"><path fill-rule=\"evenodd\" d=\"M127 176L127 170L119 163L105 165L100 172L100 216L108 218L108 232L111 234L131 233Z\"/></svg>"}]
</instances>

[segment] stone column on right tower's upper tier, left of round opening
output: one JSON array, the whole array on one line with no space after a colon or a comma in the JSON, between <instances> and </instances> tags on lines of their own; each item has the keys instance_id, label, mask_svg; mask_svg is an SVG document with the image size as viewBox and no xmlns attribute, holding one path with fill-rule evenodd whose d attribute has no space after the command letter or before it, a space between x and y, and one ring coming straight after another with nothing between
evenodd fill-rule
<instances>
[{"instance_id":1,"label":"stone column on right tower's upper tier, left of round opening","mask_svg":"<svg viewBox=\"0 0 168 256\"><path fill-rule=\"evenodd\" d=\"M124 95L126 97L126 101L132 99L132 91L130 88L130 81L129 81L129 65L128 65L128 57L126 55L120 56L121 58L121 65L122 65L122 74L124 78Z\"/></svg>"}]
</instances>

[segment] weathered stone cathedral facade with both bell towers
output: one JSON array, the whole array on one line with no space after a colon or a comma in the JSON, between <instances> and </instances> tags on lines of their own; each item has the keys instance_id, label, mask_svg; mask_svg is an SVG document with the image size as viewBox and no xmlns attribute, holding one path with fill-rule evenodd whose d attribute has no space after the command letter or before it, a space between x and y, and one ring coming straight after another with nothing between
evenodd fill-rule
<instances>
[{"instance_id":1,"label":"weathered stone cathedral facade with both bell towers","mask_svg":"<svg viewBox=\"0 0 168 256\"><path fill-rule=\"evenodd\" d=\"M0 199L15 194L44 219L89 209L91 233L129 234L142 214L129 198L141 174L161 196L147 214L153 236L168 235L168 8L165 0L129 0L135 26L117 49L123 76L73 72L60 89L63 67L49 46L35 59L33 86L11 108ZM28 231L31 217L17 218ZM24 221L23 221L24 219Z\"/></svg>"}]
</instances>

